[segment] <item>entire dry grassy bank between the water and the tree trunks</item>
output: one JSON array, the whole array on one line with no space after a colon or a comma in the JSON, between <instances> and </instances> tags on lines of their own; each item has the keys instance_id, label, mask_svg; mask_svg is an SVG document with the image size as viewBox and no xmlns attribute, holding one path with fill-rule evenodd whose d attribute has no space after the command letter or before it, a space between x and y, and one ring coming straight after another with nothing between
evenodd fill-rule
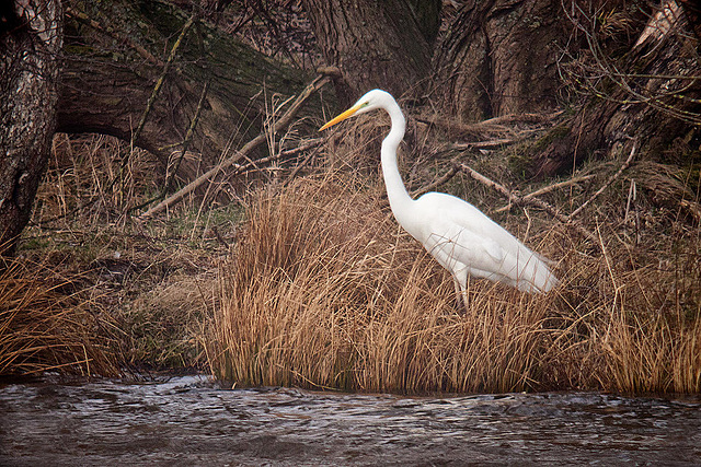
<instances>
[{"instance_id":1,"label":"entire dry grassy bank between the water and the tree trunks","mask_svg":"<svg viewBox=\"0 0 701 467\"><path fill-rule=\"evenodd\" d=\"M0 374L192 367L348 390L701 390L698 167L627 165L621 152L535 182L524 144L545 124L493 121L461 129L481 141L438 144L412 121L407 186L474 203L554 261L556 291L478 280L469 310L456 308L450 278L391 218L381 132L367 121L329 138L302 178L274 166L230 180L235 201L193 197L148 221L138 207L164 179L148 153L59 135L0 276Z\"/></svg>"}]
</instances>

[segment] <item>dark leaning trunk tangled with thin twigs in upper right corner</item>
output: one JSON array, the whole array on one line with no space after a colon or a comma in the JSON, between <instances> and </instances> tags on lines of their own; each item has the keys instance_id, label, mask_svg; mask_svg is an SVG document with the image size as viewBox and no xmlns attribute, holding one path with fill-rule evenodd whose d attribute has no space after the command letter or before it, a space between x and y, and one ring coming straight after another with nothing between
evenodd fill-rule
<instances>
[{"instance_id":1,"label":"dark leaning trunk tangled with thin twigs in upper right corner","mask_svg":"<svg viewBox=\"0 0 701 467\"><path fill-rule=\"evenodd\" d=\"M663 8L665 4L663 3ZM658 10L662 11L662 10ZM572 81L589 83L585 104L536 148L533 175L570 171L591 156L616 155L639 141L639 153L687 164L701 139L699 40L683 15L642 15L634 34L608 54L601 32L581 12L575 22L591 47L568 66Z\"/></svg>"}]
</instances>

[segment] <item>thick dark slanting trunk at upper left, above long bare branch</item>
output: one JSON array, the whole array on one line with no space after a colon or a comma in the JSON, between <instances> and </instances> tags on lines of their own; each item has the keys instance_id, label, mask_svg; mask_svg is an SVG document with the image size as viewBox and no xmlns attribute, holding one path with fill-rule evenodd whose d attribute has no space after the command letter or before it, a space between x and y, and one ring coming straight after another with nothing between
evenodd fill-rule
<instances>
[{"instance_id":1,"label":"thick dark slanting trunk at upper left, above long bare branch","mask_svg":"<svg viewBox=\"0 0 701 467\"><path fill-rule=\"evenodd\" d=\"M58 131L99 132L131 141L146 116L134 143L165 165L180 159L197 116L188 143L197 156L186 157L179 167L185 180L257 136L266 113L272 113L272 95L280 94L281 102L311 79L197 19L163 74L191 13L150 1L67 4ZM147 114L160 78L162 87Z\"/></svg>"}]
</instances>

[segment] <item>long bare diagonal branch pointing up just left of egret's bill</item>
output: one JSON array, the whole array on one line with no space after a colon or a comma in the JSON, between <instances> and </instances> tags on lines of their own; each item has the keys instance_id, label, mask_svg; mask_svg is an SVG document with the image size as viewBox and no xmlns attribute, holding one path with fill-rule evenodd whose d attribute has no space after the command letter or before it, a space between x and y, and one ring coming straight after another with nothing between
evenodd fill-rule
<instances>
[{"instance_id":1,"label":"long bare diagonal branch pointing up just left of egret's bill","mask_svg":"<svg viewBox=\"0 0 701 467\"><path fill-rule=\"evenodd\" d=\"M330 77L325 74L317 77L314 81L312 81L307 86L307 89L304 89L304 91L302 91L299 94L297 100L295 100L295 102L290 105L287 112L280 117L280 119L275 122L272 131L277 132L277 131L280 131L283 128L287 127L287 125L289 125L291 119L295 117L295 115L300 109L302 104L309 98L309 96L315 91L320 90L330 80L331 80ZM240 165L239 162L248 157L248 154L250 154L255 148L257 148L265 140L266 140L265 132L260 133L257 137L253 138L251 141L245 143L239 151L237 151L232 157L229 157L222 161L221 163L217 164L206 173L202 174L199 177L197 177L196 179L194 179L193 182L184 186L182 189L177 190L170 197L165 198L163 201L159 202L158 205L149 209L147 212L141 214L140 218L143 218L143 219L150 218L153 214L162 212L165 209L172 207L173 205L176 205L187 195L193 192L195 189L197 189L208 180L212 180L216 175L218 175L220 172L227 168L235 166L238 170L241 170L242 165Z\"/></svg>"}]
</instances>

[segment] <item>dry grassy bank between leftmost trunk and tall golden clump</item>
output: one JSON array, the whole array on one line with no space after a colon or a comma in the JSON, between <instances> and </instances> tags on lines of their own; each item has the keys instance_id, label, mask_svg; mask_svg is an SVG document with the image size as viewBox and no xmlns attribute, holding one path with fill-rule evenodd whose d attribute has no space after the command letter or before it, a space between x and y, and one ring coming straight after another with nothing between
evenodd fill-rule
<instances>
[{"instance_id":1,"label":"dry grassy bank between leftmost trunk and tall golden clump","mask_svg":"<svg viewBox=\"0 0 701 467\"><path fill-rule=\"evenodd\" d=\"M16 364L14 353L55 349L61 336L68 348L82 336L87 349L100 342L112 355L112 366L104 371L90 363L93 373L202 365L197 336L212 306L218 257L227 250L211 225L218 226L220 237L230 236L238 223L235 210L215 207L200 214L202 207L193 201L148 224L135 222L131 209L161 189L163 178L156 167L150 154L129 151L114 138L55 138L16 265L0 277L0 288L14 290L16 281L23 281L23 293L41 300L22 301L24 320L3 312L0 328L20 336L35 319L36 326L71 331L56 331L56 340L43 347L14 337L12 347L0 349L0 360L15 362L3 372L54 365L87 373L87 367L73 364L71 354L55 350L53 364ZM54 285L43 285L45 281ZM0 296L0 310L11 300L19 299ZM94 328L94 319L77 319L77 314L108 325Z\"/></svg>"}]
</instances>

